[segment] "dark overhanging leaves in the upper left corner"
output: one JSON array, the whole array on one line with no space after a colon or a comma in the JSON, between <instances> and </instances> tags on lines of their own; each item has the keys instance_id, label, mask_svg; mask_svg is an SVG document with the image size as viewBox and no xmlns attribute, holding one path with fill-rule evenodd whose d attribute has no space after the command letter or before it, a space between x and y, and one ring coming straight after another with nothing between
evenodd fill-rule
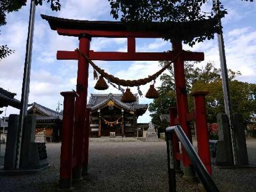
<instances>
[{"instance_id":1,"label":"dark overhanging leaves in the upper left corner","mask_svg":"<svg viewBox=\"0 0 256 192\"><path fill-rule=\"evenodd\" d=\"M42 5L43 1L51 4L54 11L60 10L60 0L34 0L36 5ZM27 0L0 0L0 26L6 25L6 14L20 10L26 6ZM0 45L0 60L14 53L7 45Z\"/></svg>"}]
</instances>

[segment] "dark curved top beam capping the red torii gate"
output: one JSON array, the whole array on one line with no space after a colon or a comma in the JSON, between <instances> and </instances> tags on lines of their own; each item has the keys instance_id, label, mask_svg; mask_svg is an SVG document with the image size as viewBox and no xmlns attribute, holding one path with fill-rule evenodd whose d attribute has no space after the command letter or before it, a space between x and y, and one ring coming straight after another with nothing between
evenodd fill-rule
<instances>
[{"instance_id":1,"label":"dark curved top beam capping the red torii gate","mask_svg":"<svg viewBox=\"0 0 256 192\"><path fill-rule=\"evenodd\" d=\"M150 25L143 24L138 25L137 22L126 23L124 21L89 21L89 20L75 20L59 18L54 16L48 16L41 14L42 19L48 21L52 30L58 29L73 29L73 30L102 30L102 31L137 31L137 32L151 32L149 38L160 38L164 34L172 34L174 38L176 34L181 39L186 38L187 30L193 31L191 38L199 37L204 34L204 30L198 30L198 26L206 28L212 19L202 19L197 21L185 21L185 22L151 22ZM131 29L131 26L133 28ZM61 32L59 34L69 35L68 32ZM140 37L140 34L137 35Z\"/></svg>"}]
</instances>

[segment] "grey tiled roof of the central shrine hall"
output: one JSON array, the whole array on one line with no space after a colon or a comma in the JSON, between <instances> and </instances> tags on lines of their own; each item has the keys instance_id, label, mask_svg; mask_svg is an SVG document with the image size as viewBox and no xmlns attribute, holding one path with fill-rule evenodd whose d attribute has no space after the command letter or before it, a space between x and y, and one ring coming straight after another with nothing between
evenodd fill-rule
<instances>
[{"instance_id":1,"label":"grey tiled roof of the central shrine hall","mask_svg":"<svg viewBox=\"0 0 256 192\"><path fill-rule=\"evenodd\" d=\"M87 108L91 110L96 110L104 106L109 100L114 101L118 106L126 110L147 110L148 104L139 104L139 97L137 94L134 94L136 97L136 102L133 103L124 103L121 102L122 94L91 94L90 100L87 104Z\"/></svg>"}]
</instances>

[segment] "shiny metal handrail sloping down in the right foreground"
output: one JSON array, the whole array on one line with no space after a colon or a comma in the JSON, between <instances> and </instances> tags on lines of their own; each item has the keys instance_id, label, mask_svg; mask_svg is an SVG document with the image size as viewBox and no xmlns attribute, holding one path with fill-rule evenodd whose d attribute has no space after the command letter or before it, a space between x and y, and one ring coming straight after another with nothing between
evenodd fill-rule
<instances>
[{"instance_id":1,"label":"shiny metal handrail sloping down in the right foreground","mask_svg":"<svg viewBox=\"0 0 256 192\"><path fill-rule=\"evenodd\" d=\"M200 160L197 152L192 146L190 140L179 125L166 128L166 144L168 153L168 173L169 173L169 191L176 192L176 178L174 170L174 152L173 152L173 132L177 135L182 143L183 148L186 150L192 165L194 166L202 185L207 192L219 192L212 177L206 170L204 164Z\"/></svg>"}]
</instances>

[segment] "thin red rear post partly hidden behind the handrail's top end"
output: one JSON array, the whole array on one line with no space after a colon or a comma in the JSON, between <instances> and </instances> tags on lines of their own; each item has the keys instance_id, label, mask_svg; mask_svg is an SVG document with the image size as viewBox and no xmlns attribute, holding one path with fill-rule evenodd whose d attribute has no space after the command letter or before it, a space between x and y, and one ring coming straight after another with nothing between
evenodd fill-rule
<instances>
[{"instance_id":1,"label":"thin red rear post partly hidden behind the handrail's top end","mask_svg":"<svg viewBox=\"0 0 256 192\"><path fill-rule=\"evenodd\" d=\"M170 126L174 126L174 119L177 117L178 111L176 107L170 107L169 108L169 116L170 116ZM178 137L176 136L176 134L173 134L173 150L174 150L174 160L175 160L175 171L176 172L180 172L180 160L178 160L177 157L177 153L180 153L180 144L178 141Z\"/></svg>"}]
</instances>

